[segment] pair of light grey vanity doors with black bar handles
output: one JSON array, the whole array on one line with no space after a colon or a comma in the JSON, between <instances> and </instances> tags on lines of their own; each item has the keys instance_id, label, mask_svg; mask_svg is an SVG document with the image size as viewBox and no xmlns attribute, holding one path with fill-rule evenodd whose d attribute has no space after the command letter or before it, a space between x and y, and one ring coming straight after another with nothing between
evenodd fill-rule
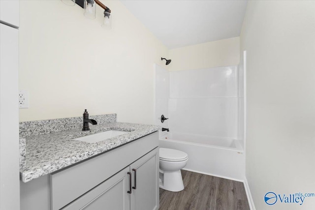
<instances>
[{"instance_id":1,"label":"pair of light grey vanity doors with black bar handles","mask_svg":"<svg viewBox=\"0 0 315 210\"><path fill-rule=\"evenodd\" d=\"M158 148L62 210L157 210Z\"/></svg>"}]
</instances>

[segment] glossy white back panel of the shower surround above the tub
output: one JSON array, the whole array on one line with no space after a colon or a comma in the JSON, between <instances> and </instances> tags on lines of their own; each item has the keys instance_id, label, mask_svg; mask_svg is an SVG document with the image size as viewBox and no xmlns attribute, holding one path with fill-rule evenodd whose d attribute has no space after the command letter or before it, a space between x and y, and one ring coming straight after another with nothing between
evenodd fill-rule
<instances>
[{"instance_id":1,"label":"glossy white back panel of the shower surround above the tub","mask_svg":"<svg viewBox=\"0 0 315 210\"><path fill-rule=\"evenodd\" d=\"M170 72L170 130L236 139L237 94L237 66Z\"/></svg>"}]
</instances>

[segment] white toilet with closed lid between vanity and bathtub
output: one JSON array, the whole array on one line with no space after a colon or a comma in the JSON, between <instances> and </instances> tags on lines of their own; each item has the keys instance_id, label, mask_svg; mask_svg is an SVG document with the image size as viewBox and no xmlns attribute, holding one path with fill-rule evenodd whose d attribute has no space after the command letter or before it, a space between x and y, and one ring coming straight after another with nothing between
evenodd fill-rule
<instances>
[{"instance_id":1,"label":"white toilet with closed lid between vanity and bathtub","mask_svg":"<svg viewBox=\"0 0 315 210\"><path fill-rule=\"evenodd\" d=\"M184 189L181 169L188 161L188 154L167 148L159 149L159 187L172 192Z\"/></svg>"}]
</instances>

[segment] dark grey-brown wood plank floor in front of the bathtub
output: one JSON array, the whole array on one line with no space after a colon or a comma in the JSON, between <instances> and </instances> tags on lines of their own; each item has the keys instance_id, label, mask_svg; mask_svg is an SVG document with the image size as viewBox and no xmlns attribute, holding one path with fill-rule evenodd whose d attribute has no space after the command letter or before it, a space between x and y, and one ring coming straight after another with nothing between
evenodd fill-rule
<instances>
[{"instance_id":1,"label":"dark grey-brown wood plank floor in front of the bathtub","mask_svg":"<svg viewBox=\"0 0 315 210\"><path fill-rule=\"evenodd\" d=\"M182 170L185 189L159 189L159 210L250 210L243 182Z\"/></svg>"}]
</instances>

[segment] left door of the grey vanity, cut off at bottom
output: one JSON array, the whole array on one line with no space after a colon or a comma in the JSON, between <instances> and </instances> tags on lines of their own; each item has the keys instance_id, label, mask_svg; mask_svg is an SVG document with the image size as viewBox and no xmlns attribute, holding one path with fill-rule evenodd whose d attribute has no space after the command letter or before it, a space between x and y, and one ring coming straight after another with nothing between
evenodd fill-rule
<instances>
[{"instance_id":1,"label":"left door of the grey vanity, cut off at bottom","mask_svg":"<svg viewBox=\"0 0 315 210\"><path fill-rule=\"evenodd\" d=\"M129 210L129 166L100 183L63 210Z\"/></svg>"}]
</instances>

